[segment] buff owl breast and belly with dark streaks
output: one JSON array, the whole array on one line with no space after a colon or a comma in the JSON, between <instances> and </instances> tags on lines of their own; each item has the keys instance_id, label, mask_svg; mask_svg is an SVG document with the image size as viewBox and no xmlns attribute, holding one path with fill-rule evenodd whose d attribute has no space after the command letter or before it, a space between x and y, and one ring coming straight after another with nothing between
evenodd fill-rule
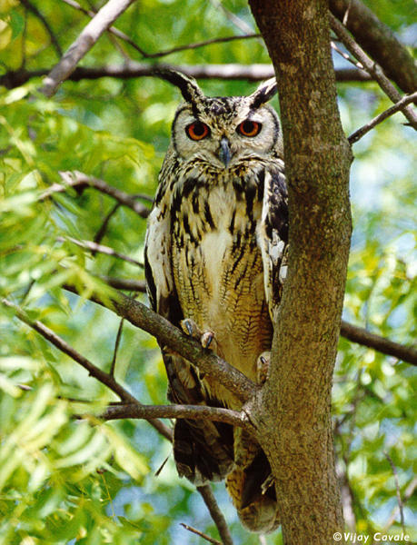
<instances>
[{"instance_id":1,"label":"buff owl breast and belly with dark streaks","mask_svg":"<svg viewBox=\"0 0 417 545\"><path fill-rule=\"evenodd\" d=\"M256 361L272 342L256 233L263 168L190 173L171 203L174 283L184 317L214 333L213 350L256 380ZM192 182L190 182L192 180ZM222 385L204 378L210 396L233 405ZM240 408L236 401L236 407Z\"/></svg>"}]
</instances>

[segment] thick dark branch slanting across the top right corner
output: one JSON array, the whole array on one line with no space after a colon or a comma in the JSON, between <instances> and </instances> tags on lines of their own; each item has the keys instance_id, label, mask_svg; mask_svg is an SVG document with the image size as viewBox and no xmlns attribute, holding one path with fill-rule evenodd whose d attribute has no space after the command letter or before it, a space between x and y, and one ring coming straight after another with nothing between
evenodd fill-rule
<instances>
[{"instance_id":1,"label":"thick dark branch slanting across the top right corner","mask_svg":"<svg viewBox=\"0 0 417 545\"><path fill-rule=\"evenodd\" d=\"M356 42L383 68L404 93L417 89L417 68L412 55L360 0L330 0L330 9Z\"/></svg>"}]
</instances>

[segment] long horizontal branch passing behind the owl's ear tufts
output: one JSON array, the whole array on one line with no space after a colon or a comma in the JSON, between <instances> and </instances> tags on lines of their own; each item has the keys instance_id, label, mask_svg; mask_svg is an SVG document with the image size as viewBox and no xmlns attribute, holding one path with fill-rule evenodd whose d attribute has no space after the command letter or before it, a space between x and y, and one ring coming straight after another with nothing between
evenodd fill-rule
<instances>
[{"instance_id":1,"label":"long horizontal branch passing behind the owl's ear tufts","mask_svg":"<svg viewBox=\"0 0 417 545\"><path fill-rule=\"evenodd\" d=\"M271 64L147 64L129 61L124 64L108 64L105 66L84 67L78 66L67 79L78 82L82 79L98 79L100 77L115 77L131 79L134 77L150 76L155 68L168 67L180 70L195 79L246 80L258 82L273 77ZM0 85L13 89L25 84L32 78L48 74L49 68L28 71L25 68L10 71L0 76ZM372 78L362 70L355 68L336 69L338 82L367 82Z\"/></svg>"}]
</instances>

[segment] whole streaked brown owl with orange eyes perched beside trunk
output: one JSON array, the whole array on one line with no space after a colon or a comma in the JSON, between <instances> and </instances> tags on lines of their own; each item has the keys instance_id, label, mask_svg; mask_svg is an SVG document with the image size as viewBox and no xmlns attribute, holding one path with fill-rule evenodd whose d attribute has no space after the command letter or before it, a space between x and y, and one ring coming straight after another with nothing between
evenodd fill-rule
<instances>
[{"instance_id":1,"label":"whole streaked brown owl with orange eyes perched beside trunk","mask_svg":"<svg viewBox=\"0 0 417 545\"><path fill-rule=\"evenodd\" d=\"M208 97L161 70L184 97L175 115L145 240L151 305L253 381L264 381L286 271L287 192L268 80L249 96ZM161 347L174 403L242 409L242 401ZM271 467L255 439L213 421L177 420L174 460L196 485L225 479L243 526L279 524Z\"/></svg>"}]
</instances>

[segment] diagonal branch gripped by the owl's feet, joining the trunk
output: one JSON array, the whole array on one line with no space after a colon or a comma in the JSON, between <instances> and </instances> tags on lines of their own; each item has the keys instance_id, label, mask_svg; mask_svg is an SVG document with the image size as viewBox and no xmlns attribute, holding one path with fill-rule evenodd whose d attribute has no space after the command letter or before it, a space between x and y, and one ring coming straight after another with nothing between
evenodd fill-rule
<instances>
[{"instance_id":1,"label":"diagonal branch gripped by the owl's feet, joining the trunk","mask_svg":"<svg viewBox=\"0 0 417 545\"><path fill-rule=\"evenodd\" d=\"M69 292L78 294L73 285L65 284L63 287ZM201 372L222 382L223 386L233 391L241 401L248 401L257 390L253 381L242 372L224 362L212 351L204 349L199 342L184 335L172 323L148 309L143 303L116 291L112 294L111 302L108 301L108 294L104 297L100 293L94 293L90 300L109 308L134 326L154 335L161 346L167 346L174 352L182 354Z\"/></svg>"}]
</instances>

